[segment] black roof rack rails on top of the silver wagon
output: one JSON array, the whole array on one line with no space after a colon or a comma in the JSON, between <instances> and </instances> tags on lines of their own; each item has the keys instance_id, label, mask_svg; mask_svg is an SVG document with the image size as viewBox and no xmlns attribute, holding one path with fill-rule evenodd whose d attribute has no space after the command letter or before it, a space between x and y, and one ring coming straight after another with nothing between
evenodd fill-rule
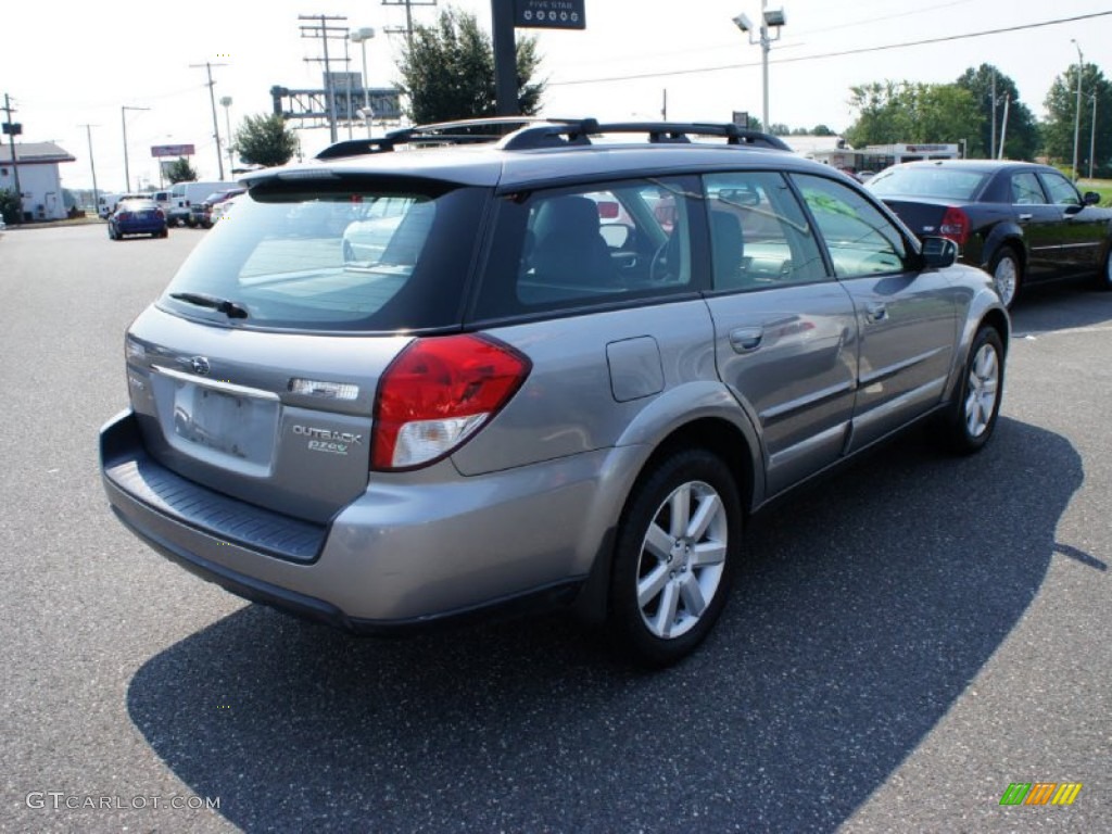
<instances>
[{"instance_id":1,"label":"black roof rack rails on top of the silver wagon","mask_svg":"<svg viewBox=\"0 0 1112 834\"><path fill-rule=\"evenodd\" d=\"M780 137L746 130L736 125L678 121L616 121L597 119L537 119L527 116L505 116L489 119L461 119L430 125L415 125L393 130L371 139L349 139L336 142L317 155L317 159L383 153L399 145L475 145L500 142L503 150L532 150L565 146L592 145L590 137L600 133L644 133L651 145L687 145L692 136L719 136L727 145L791 150Z\"/></svg>"}]
</instances>

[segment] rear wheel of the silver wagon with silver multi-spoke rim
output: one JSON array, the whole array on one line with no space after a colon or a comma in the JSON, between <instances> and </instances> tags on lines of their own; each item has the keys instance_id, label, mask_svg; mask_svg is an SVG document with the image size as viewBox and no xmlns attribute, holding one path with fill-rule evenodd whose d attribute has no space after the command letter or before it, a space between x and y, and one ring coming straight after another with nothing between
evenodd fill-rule
<instances>
[{"instance_id":1,"label":"rear wheel of the silver wagon with silver multi-spoke rim","mask_svg":"<svg viewBox=\"0 0 1112 834\"><path fill-rule=\"evenodd\" d=\"M642 477L622 514L610 578L618 649L659 668L706 637L729 595L742 539L737 485L706 449L677 451Z\"/></svg>"}]
</instances>

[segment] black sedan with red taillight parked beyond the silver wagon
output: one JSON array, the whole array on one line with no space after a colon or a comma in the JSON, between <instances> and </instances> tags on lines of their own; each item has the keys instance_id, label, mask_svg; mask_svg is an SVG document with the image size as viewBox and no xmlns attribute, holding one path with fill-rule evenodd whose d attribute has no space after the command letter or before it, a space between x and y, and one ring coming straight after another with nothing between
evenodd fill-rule
<instances>
[{"instance_id":1,"label":"black sedan with red taillight parked beyond the silver wagon","mask_svg":"<svg viewBox=\"0 0 1112 834\"><path fill-rule=\"evenodd\" d=\"M1112 209L1058 169L1033 162L905 162L868 189L916 235L957 244L960 260L993 275L1011 307L1027 284L1091 276L1112 289Z\"/></svg>"}]
</instances>

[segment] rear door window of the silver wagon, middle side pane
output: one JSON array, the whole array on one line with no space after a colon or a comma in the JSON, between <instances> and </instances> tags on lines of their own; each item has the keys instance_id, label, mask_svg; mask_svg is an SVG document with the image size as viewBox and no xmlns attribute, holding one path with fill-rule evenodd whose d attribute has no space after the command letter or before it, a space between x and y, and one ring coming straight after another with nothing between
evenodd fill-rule
<instances>
[{"instance_id":1,"label":"rear door window of the silver wagon, middle side pane","mask_svg":"<svg viewBox=\"0 0 1112 834\"><path fill-rule=\"evenodd\" d=\"M712 173L704 186L714 289L767 289L826 278L815 235L782 175Z\"/></svg>"}]
</instances>

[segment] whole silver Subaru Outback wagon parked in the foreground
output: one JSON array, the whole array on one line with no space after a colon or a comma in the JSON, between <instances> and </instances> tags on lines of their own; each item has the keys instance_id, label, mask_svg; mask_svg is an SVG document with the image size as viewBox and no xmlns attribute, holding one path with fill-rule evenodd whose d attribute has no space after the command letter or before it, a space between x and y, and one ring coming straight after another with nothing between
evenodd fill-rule
<instances>
[{"instance_id":1,"label":"whole silver Subaru Outback wagon parked in the foreground","mask_svg":"<svg viewBox=\"0 0 1112 834\"><path fill-rule=\"evenodd\" d=\"M564 605L659 666L771 499L991 437L1009 318L950 241L733 126L514 127L248 176L127 334L129 529L344 628Z\"/></svg>"}]
</instances>

